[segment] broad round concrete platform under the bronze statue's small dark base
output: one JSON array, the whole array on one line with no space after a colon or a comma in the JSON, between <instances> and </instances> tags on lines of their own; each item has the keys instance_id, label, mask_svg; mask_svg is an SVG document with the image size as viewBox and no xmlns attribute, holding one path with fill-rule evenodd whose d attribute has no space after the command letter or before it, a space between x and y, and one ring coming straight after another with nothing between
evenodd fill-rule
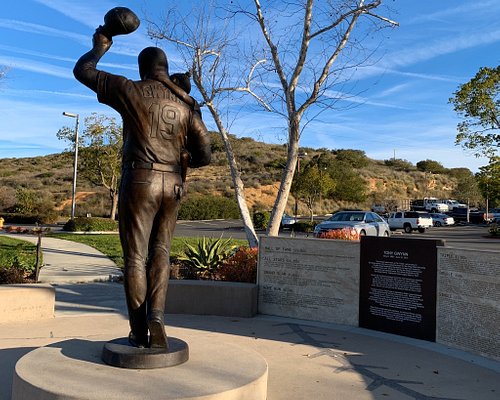
<instances>
[{"instance_id":1,"label":"broad round concrete platform under the bronze statue's small dark base","mask_svg":"<svg viewBox=\"0 0 500 400\"><path fill-rule=\"evenodd\" d=\"M16 364L12 400L265 400L267 363L254 351L185 337L189 361L169 368L116 368L101 360L105 342L66 340Z\"/></svg>"}]
</instances>

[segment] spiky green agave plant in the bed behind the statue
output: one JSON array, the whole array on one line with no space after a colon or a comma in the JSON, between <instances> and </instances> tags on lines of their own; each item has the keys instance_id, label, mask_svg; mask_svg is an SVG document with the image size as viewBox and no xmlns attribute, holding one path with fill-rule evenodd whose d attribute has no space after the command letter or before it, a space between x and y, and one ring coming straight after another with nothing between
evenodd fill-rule
<instances>
[{"instance_id":1,"label":"spiky green agave plant in the bed behind the statue","mask_svg":"<svg viewBox=\"0 0 500 400\"><path fill-rule=\"evenodd\" d=\"M195 246L185 243L186 250L177 259L194 270L199 278L214 279L217 269L229 258L237 245L231 244L231 238L201 238Z\"/></svg>"}]
</instances>

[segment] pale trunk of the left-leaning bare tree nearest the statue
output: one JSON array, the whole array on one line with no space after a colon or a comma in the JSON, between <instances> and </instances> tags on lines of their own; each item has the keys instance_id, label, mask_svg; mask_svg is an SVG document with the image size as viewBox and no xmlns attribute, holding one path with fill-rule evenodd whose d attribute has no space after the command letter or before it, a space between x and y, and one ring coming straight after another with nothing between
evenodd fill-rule
<instances>
[{"instance_id":1,"label":"pale trunk of the left-leaning bare tree nearest the statue","mask_svg":"<svg viewBox=\"0 0 500 400\"><path fill-rule=\"evenodd\" d=\"M229 136L227 134L222 121L217 113L217 110L213 107L211 103L207 103L207 107L212 113L219 133L221 134L222 141L224 142L224 147L226 149L226 156L229 163L229 169L231 171L231 178L233 180L234 192L236 195L236 202L238 203L238 208L240 209L241 220L243 221L243 228L245 229L245 234L247 236L248 245L250 247L257 247L259 245L259 239L255 233L253 226L252 217L250 216L250 211L248 210L248 204L245 198L245 186L241 179L240 171L238 170L238 164L234 156L233 148L229 142Z\"/></svg>"}]
</instances>

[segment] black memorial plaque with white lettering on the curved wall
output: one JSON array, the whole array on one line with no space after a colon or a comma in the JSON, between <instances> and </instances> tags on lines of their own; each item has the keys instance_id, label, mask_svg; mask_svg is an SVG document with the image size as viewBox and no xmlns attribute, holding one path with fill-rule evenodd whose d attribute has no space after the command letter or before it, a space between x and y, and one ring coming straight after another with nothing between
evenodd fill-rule
<instances>
[{"instance_id":1,"label":"black memorial plaque with white lettering on the curved wall","mask_svg":"<svg viewBox=\"0 0 500 400\"><path fill-rule=\"evenodd\" d=\"M359 326L436 340L437 246L441 243L362 238Z\"/></svg>"}]
</instances>

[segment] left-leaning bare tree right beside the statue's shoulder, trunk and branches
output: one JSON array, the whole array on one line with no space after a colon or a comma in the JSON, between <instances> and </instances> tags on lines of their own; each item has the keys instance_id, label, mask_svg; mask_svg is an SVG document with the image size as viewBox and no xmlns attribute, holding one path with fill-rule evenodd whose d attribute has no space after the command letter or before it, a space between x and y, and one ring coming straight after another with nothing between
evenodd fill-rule
<instances>
[{"instance_id":1,"label":"left-leaning bare tree right beside the statue's shoulder, trunk and branches","mask_svg":"<svg viewBox=\"0 0 500 400\"><path fill-rule=\"evenodd\" d=\"M264 60L258 60L250 66L244 80L235 78L241 75L235 74L228 63L231 54L234 56L232 53L234 41L229 38L229 32L232 30L228 25L221 26L220 21L217 24L212 24L210 13L203 7L192 10L189 18L183 17L171 9L163 18L161 26L153 21L148 22L151 38L175 44L201 94L203 100L201 105L206 106L210 111L224 143L247 240L250 247L256 247L258 238L246 202L241 172L229 140L228 128L221 113L223 109L221 104L224 101L231 101L231 96L234 94L243 93L252 95L266 107L251 89L255 69Z\"/></svg>"}]
</instances>

